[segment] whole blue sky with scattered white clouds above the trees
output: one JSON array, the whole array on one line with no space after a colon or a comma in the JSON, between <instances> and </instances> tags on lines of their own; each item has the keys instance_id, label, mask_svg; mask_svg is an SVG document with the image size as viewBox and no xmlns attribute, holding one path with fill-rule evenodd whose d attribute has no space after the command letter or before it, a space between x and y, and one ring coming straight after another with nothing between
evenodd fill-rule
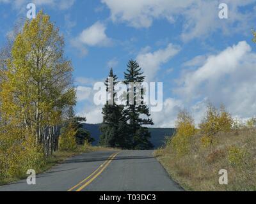
<instances>
[{"instance_id":1,"label":"whole blue sky with scattered white clouds above the trees","mask_svg":"<svg viewBox=\"0 0 256 204\"><path fill-rule=\"evenodd\" d=\"M0 46L30 2L65 36L76 111L88 122L102 121L93 84L111 66L122 79L129 59L148 81L163 82L163 110L152 113L156 127L174 126L182 108L199 122L208 100L239 119L256 115L256 0L0 0ZM228 19L219 18L220 3L227 4Z\"/></svg>"}]
</instances>

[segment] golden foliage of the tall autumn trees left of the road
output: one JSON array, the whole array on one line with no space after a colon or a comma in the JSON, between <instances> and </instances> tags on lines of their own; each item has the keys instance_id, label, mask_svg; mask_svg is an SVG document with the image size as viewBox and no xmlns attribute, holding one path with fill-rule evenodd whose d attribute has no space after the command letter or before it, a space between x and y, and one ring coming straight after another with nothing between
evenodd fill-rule
<instances>
[{"instance_id":1,"label":"golden foliage of the tall autumn trees left of the road","mask_svg":"<svg viewBox=\"0 0 256 204\"><path fill-rule=\"evenodd\" d=\"M17 34L0 71L0 179L18 178L45 163L42 129L59 126L76 103L63 37L42 11ZM1 65L3 66L3 65ZM74 146L67 131L68 149ZM76 142L76 141L75 141ZM62 142L63 144L63 142Z\"/></svg>"}]
</instances>

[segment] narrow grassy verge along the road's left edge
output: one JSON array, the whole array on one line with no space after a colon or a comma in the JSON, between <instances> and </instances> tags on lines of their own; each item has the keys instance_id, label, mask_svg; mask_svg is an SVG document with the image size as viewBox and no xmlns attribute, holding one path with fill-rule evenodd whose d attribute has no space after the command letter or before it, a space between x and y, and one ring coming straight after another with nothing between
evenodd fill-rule
<instances>
[{"instance_id":1,"label":"narrow grassy verge along the road's left edge","mask_svg":"<svg viewBox=\"0 0 256 204\"><path fill-rule=\"evenodd\" d=\"M67 152L67 151L57 151L52 154L52 156L48 157L45 159L45 164L40 168L40 170L37 170L36 173L44 173L45 171L49 170L52 168L52 166L55 166L56 164L61 164L63 161L68 159L69 157L76 156L78 154L82 153L88 153L88 152L97 152L97 151L107 151L107 150L116 150L116 149L111 149L111 148L106 148L106 147L93 147L93 146L88 146L84 147L83 145L78 146L76 150L72 152ZM5 184L10 184L12 182L15 182L20 179L25 179L27 178L28 175L20 175L17 178L8 178L4 180L0 180L0 186L3 186Z\"/></svg>"}]
</instances>

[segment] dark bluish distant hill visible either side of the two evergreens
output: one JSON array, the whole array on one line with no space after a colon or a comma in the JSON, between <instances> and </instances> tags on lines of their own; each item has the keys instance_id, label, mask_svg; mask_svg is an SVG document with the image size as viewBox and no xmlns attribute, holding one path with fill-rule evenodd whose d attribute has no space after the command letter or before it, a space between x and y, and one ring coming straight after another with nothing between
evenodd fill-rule
<instances>
[{"instance_id":1,"label":"dark bluish distant hill visible either side of the two evergreens","mask_svg":"<svg viewBox=\"0 0 256 204\"><path fill-rule=\"evenodd\" d=\"M100 124L84 124L84 128L87 129L91 136L95 139L93 145L99 143L99 138L101 135ZM175 128L148 128L151 133L150 141L153 143L154 147L161 147L164 145L164 138L166 136L172 136L175 132Z\"/></svg>"}]
</instances>

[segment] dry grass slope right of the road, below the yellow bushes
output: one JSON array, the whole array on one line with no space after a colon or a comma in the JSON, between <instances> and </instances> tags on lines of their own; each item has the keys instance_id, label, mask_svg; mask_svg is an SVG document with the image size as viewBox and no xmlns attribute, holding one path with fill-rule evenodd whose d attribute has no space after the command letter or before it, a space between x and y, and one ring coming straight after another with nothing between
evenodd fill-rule
<instances>
[{"instance_id":1,"label":"dry grass slope right of the road, below the yellow bushes","mask_svg":"<svg viewBox=\"0 0 256 204\"><path fill-rule=\"evenodd\" d=\"M189 153L177 156L171 145L154 153L173 180L189 191L256 191L256 130L218 133L216 145L202 147L201 135L191 138ZM220 185L221 169L228 185Z\"/></svg>"}]
</instances>

